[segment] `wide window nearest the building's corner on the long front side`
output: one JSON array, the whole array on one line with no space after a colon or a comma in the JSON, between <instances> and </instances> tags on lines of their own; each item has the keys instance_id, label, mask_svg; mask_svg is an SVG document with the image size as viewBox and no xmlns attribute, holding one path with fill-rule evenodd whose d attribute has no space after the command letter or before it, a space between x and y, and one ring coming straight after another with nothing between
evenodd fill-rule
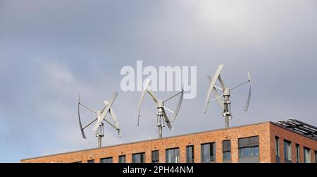
<instances>
[{"instance_id":1,"label":"wide window nearest the building's corner on the long front side","mask_svg":"<svg viewBox=\"0 0 317 177\"><path fill-rule=\"evenodd\" d=\"M259 162L259 136L240 138L239 162L255 163Z\"/></svg>"}]
</instances>

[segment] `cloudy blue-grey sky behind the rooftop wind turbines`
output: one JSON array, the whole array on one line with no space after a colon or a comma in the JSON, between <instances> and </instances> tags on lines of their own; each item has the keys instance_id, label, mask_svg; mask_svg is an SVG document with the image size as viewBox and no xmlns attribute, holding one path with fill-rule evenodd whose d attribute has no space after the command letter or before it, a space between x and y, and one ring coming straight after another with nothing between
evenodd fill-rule
<instances>
[{"instance_id":1,"label":"cloudy blue-grey sky behind the rooftop wind turbines","mask_svg":"<svg viewBox=\"0 0 317 177\"><path fill-rule=\"evenodd\" d=\"M137 127L140 92L120 90L120 69L137 60L197 66L197 97L184 100L175 130L163 136L225 126L216 103L202 113L206 75L220 63L228 85L247 72L253 80L248 112L232 98L230 126L287 118L317 125L315 0L0 0L0 161L97 147L92 127L87 140L80 135L80 92L95 109L118 92L122 138L106 126L103 145L156 138L154 112ZM247 87L235 94L246 98ZM94 116L82 114L85 123Z\"/></svg>"}]
</instances>

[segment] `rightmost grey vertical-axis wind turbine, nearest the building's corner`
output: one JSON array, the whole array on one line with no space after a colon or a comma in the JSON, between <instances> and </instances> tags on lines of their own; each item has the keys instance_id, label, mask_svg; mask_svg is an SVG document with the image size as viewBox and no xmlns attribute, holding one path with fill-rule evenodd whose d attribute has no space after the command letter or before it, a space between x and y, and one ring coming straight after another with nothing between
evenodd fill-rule
<instances>
[{"instance_id":1,"label":"rightmost grey vertical-axis wind turbine, nearest the building's corner","mask_svg":"<svg viewBox=\"0 0 317 177\"><path fill-rule=\"evenodd\" d=\"M225 83L223 83L223 79L220 76L220 73L223 70L223 67L224 67L223 64L218 66L216 74L213 76L213 79L211 79L210 75L207 76L211 83L210 83L209 90L208 90L207 97L206 97L206 101L204 104L204 114L206 113L206 109L207 109L209 102L213 102L216 100L218 102L218 104L220 105L221 109L223 109L223 116L225 117L225 127L228 128L229 127L229 120L232 119L231 106L230 106L230 104L231 104L230 96L232 96L232 97L234 97L242 102L245 102L244 111L248 111L250 97L251 97L251 75L250 75L250 73L248 73L248 80L245 81L244 83L241 83L241 84L236 85L234 87L226 87ZM217 80L219 80L221 87L218 87L215 85ZM247 100L241 99L240 97L236 97L235 95L231 94L231 90L234 90L235 88L240 87L241 85L244 85L245 83L250 83L249 96L248 96ZM221 95L218 94L217 89L222 90L223 94L221 94ZM210 100L211 93L213 93L214 98ZM221 100L221 97L223 97L223 100Z\"/></svg>"}]
</instances>

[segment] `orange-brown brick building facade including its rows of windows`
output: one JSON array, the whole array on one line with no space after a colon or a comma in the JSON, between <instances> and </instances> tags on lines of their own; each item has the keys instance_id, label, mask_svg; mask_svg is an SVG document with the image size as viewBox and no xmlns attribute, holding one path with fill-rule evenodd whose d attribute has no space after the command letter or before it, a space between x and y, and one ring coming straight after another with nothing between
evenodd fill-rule
<instances>
[{"instance_id":1,"label":"orange-brown brick building facade including its rows of windows","mask_svg":"<svg viewBox=\"0 0 317 177\"><path fill-rule=\"evenodd\" d=\"M317 140L265 122L22 159L23 163L316 162Z\"/></svg>"}]
</instances>

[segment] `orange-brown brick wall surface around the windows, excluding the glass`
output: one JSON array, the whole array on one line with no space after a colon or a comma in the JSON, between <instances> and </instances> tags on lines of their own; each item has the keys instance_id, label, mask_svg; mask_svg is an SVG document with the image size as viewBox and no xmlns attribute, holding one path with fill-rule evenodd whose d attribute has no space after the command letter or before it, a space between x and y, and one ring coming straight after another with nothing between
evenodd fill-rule
<instances>
[{"instance_id":1,"label":"orange-brown brick wall surface around the windows, excluding the glass","mask_svg":"<svg viewBox=\"0 0 317 177\"><path fill-rule=\"evenodd\" d=\"M126 155L126 162L132 162L132 154L145 152L147 163L151 163L151 152L159 150L159 161L165 162L166 149L179 147L180 162L186 162L186 147L194 145L194 162L201 161L201 144L207 142L216 142L216 162L223 161L223 140L231 140L231 161L239 161L238 138L247 138L259 136L259 159L260 162L275 162L275 136L280 137L280 162L284 161L283 157L283 140L292 142L292 160L295 160L295 143L300 145L300 161L304 161L303 146L311 148L311 161L315 161L314 151L317 151L317 141L307 138L304 135L294 133L272 122L258 123L254 125L238 126L225 128L221 130L212 130L189 135L179 135L169 138L155 140L145 140L141 142L131 142L123 145L114 145L110 147L101 147L96 149L85 149L77 152L67 152L63 154L53 154L44 157L35 157L32 159L22 159L23 163L68 163L82 161L87 162L94 159L99 163L100 159L113 157L113 162L118 162L120 155Z\"/></svg>"}]
</instances>

